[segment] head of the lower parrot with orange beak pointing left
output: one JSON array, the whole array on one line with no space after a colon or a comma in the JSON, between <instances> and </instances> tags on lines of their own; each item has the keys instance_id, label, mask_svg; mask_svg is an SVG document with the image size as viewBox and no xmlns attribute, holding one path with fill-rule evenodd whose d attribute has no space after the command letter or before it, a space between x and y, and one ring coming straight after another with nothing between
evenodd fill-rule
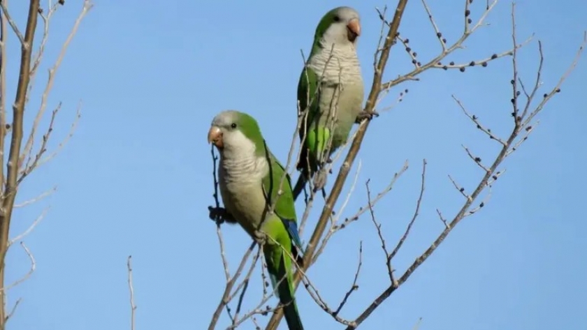
<instances>
[{"instance_id":1,"label":"head of the lower parrot with orange beak pointing left","mask_svg":"<svg viewBox=\"0 0 587 330\"><path fill-rule=\"evenodd\" d=\"M212 119L208 130L208 143L219 151L255 151L263 145L263 136L256 120L249 114L225 110Z\"/></svg>"}]
</instances>

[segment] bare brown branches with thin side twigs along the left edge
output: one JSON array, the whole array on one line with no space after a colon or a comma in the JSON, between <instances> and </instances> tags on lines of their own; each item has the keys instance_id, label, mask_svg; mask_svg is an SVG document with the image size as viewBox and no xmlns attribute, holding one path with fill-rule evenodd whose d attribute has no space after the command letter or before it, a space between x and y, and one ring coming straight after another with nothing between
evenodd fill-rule
<instances>
[{"instance_id":1,"label":"bare brown branches with thin side twigs along the left edge","mask_svg":"<svg viewBox=\"0 0 587 330\"><path fill-rule=\"evenodd\" d=\"M30 174L31 171L34 170L34 168L38 167L38 165L52 158L52 156L49 156L43 159L41 158L41 156L43 156L43 153L45 153L46 151L47 142L52 133L52 129L55 123L55 116L59 111L60 105L59 107L57 107L56 110L52 112L49 127L43 135L41 148L36 152L36 156L33 157L31 156L31 152L34 138L36 135L36 130L38 129L38 125L41 121L41 118L43 117L43 112L47 104L49 93L53 86L53 81L55 78L57 68L59 68L61 61L63 61L65 51L69 43L71 43L73 36L78 31L80 22L83 20L83 18L90 10L90 8L92 8L93 6L90 0L83 1L82 10L78 15L77 19L75 20L73 29L69 33L64 44L61 46L61 52L59 52L55 65L52 66L52 68L50 68L49 70L48 82L45 85L45 90L41 94L41 107L38 110L36 118L32 123L31 132L29 133L29 139L26 143L24 143L23 148L22 140L24 137L24 111L27 107L27 103L31 96L30 92L33 88L34 78L36 77L37 70L43 58L45 45L48 41L48 29L50 18L52 17L52 14L55 13L55 10L57 10L57 6L61 6L64 4L64 1L57 1L53 5L50 3L48 12L43 13L43 8L41 8L39 0L29 0L27 2L29 2L29 6L26 28L24 29L24 35L17 27L17 23L10 16L8 9L8 1L2 0L0 2L0 241L4 242L0 243L0 330L5 329L5 323L9 317L6 316L6 287L4 287L3 283L5 270L4 259L6 257L6 253L13 242L31 232L31 230L33 230L33 228L39 223L39 221L41 221L41 218L43 218L43 216L45 215L45 212L43 212L43 214L29 227L27 231L25 231L16 239L8 241L8 234L10 232L10 220L12 218L13 209L15 207L23 207L25 205L36 202L37 200L40 200L43 197L50 194L43 193L38 197L34 198L33 200L29 200L27 202L15 205L17 190L24 177L27 177L27 175ZM34 37L37 34L36 32L38 27L38 17L41 17L41 20L43 20L43 36L41 37L41 42L39 43L38 51L33 56L32 52L35 45ZM6 104L8 99L6 95L6 55L9 53L7 50L7 23L10 25L13 32L20 40L20 63L18 70L18 80L17 84L15 85L16 95L12 103L13 114L11 118L11 123L8 123L6 121ZM8 149L8 157L5 157L6 155L4 154L4 151L6 150L6 140L8 139L8 133L10 133L10 147ZM68 140L68 137L66 137L65 141L66 140ZM58 149L61 149L63 144L64 143L59 144ZM27 156L29 157L29 160L25 164L24 159L27 158ZM4 166L6 166L6 173L3 171ZM25 246L23 247L26 249ZM11 313L14 313L14 308L9 315L11 315Z\"/></svg>"}]
</instances>

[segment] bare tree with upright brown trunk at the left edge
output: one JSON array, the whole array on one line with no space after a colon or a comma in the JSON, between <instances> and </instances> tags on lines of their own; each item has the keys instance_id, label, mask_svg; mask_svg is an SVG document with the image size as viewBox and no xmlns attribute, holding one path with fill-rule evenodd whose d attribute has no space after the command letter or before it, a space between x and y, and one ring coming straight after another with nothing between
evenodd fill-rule
<instances>
[{"instance_id":1,"label":"bare tree with upright brown trunk at the left edge","mask_svg":"<svg viewBox=\"0 0 587 330\"><path fill-rule=\"evenodd\" d=\"M10 308L10 311L8 311L6 306L6 292L10 290L11 287L26 280L35 270L34 257L27 246L24 245L22 239L43 219L47 211L45 209L45 211L43 211L41 215L31 223L27 230L17 234L13 239L10 239L10 220L13 216L13 210L16 207L24 207L41 200L55 191L55 188L52 188L45 193L41 193L37 197L15 204L18 187L20 186L20 183L29 176L29 174L57 155L73 135L78 119L80 119L81 103L78 105L75 118L71 125L71 130L66 133L65 137L59 142L55 150L48 151L48 141L52 137L57 114L61 110L61 103L57 105L48 104L48 96L53 87L57 70L65 57L68 45L78 31L78 27L85 15L93 6L90 0L82 1L80 13L75 22L73 22L73 27L71 27L71 31L66 40L63 45L61 45L57 60L48 68L47 82L41 90L41 93L35 95L34 82L38 69L41 67L43 61L45 45L47 45L49 40L50 24L59 7L64 6L64 4L64 0L50 0L48 1L47 6L43 8L39 0L29 1L27 21L24 22L23 29L21 27L22 24L15 22L10 16L8 0L0 1L0 241L4 242L0 244L0 330L5 329L6 322L13 315L20 302L20 300L17 300L15 305ZM17 3L17 6L24 5ZM39 23L39 21L41 21L41 23ZM35 40L35 36L39 34L38 32L41 32L41 40ZM8 59L7 50L10 45L10 43L8 43L8 36L10 34L17 37L17 40L14 43L15 47L20 47L19 74L17 79L15 77L13 80L16 84L16 95L14 98L8 96L6 93L8 83L11 81L10 77L6 77L6 63ZM14 61L13 63L17 62ZM31 123L31 129L25 134L23 129L24 112L25 110L30 110L27 105L31 96L40 97L41 102L36 110L34 121ZM47 107L52 107L52 111L48 118L48 126L43 128L41 126L41 121L46 118L45 110L47 110ZM9 108L12 109L12 116L10 116L10 112L8 111ZM6 156L4 152L7 150L6 147L8 142L10 147L8 147L8 156ZM6 166L6 172L3 170L4 166ZM31 260L31 268L20 280L6 285L6 283L4 283L4 260L8 249L16 242L20 242L25 253L29 256L29 259Z\"/></svg>"}]
</instances>

